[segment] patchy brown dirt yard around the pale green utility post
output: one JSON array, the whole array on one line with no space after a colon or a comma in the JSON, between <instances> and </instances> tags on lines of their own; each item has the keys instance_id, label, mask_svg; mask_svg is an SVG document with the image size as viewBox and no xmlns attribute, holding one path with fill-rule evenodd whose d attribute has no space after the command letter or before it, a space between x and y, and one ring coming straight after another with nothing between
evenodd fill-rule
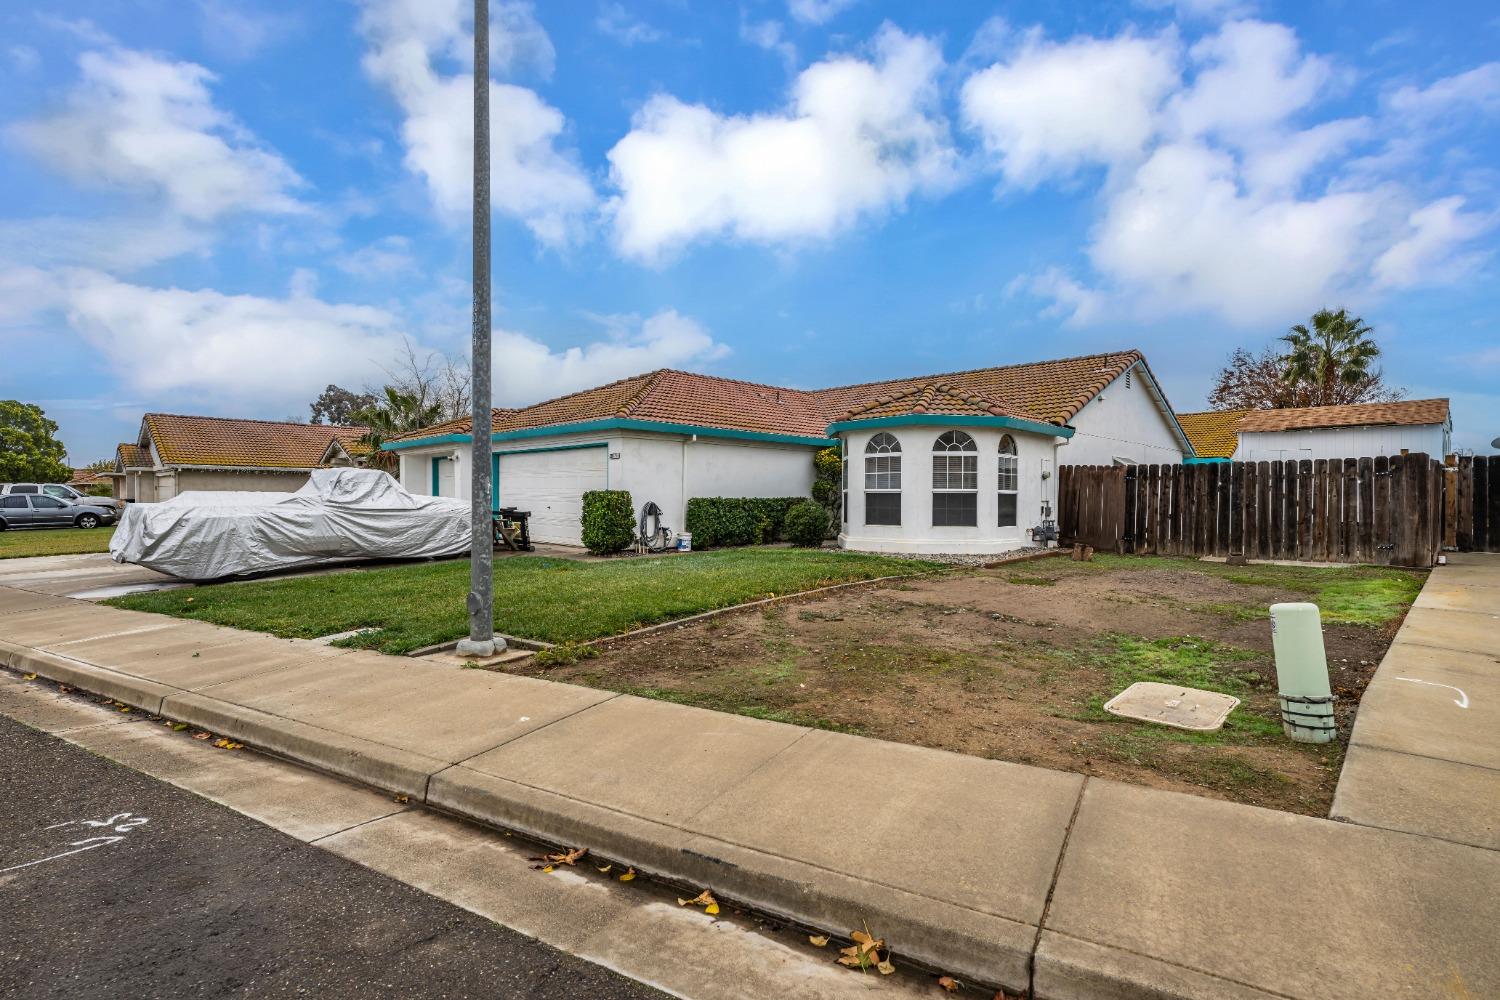
<instances>
[{"instance_id":1,"label":"patchy brown dirt yard around the pale green utility post","mask_svg":"<svg viewBox=\"0 0 1500 1000\"><path fill-rule=\"evenodd\" d=\"M723 615L525 673L1324 816L1342 742L1281 736L1266 607L1312 600L1347 738L1422 574L1096 556ZM1112 717L1134 681L1244 700L1220 733Z\"/></svg>"}]
</instances>

